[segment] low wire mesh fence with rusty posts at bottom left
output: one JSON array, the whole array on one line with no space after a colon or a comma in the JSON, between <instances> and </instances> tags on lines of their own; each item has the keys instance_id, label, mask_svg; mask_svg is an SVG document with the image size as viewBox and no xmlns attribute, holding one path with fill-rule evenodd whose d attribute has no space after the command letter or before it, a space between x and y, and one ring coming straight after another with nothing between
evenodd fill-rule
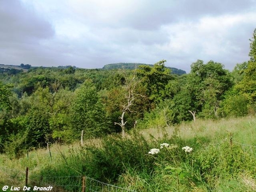
<instances>
[{"instance_id":1,"label":"low wire mesh fence with rusty posts at bottom left","mask_svg":"<svg viewBox=\"0 0 256 192\"><path fill-rule=\"evenodd\" d=\"M1 177L2 176L2 177ZM48 177L32 175L29 176L29 168L23 172L0 167L0 184L2 186L16 186L23 189L24 186L30 187L31 191L44 190L51 192L135 192L99 180L94 180L86 176L66 176ZM52 188L51 188L52 186ZM43 188L44 187L44 188ZM48 187L48 188L47 188Z\"/></svg>"}]
</instances>

